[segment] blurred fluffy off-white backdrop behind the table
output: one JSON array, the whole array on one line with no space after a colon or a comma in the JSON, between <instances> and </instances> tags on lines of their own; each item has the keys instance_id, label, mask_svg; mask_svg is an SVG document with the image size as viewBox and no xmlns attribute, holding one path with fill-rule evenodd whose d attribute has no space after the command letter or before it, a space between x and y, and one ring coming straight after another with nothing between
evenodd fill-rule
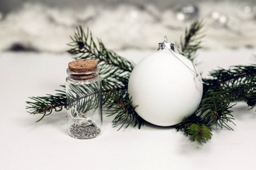
<instances>
[{"instance_id":1,"label":"blurred fluffy off-white backdrop behind the table","mask_svg":"<svg viewBox=\"0 0 256 170\"><path fill-rule=\"evenodd\" d=\"M65 53L75 27L113 50L154 50L204 21L203 50L256 48L256 1L1 0L0 51Z\"/></svg>"}]
</instances>

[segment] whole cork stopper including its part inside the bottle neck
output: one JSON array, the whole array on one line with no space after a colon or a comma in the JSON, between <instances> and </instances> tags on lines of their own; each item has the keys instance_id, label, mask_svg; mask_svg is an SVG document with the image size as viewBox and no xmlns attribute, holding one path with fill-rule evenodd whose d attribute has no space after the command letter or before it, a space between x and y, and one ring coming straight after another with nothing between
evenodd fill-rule
<instances>
[{"instance_id":1,"label":"whole cork stopper including its part inside the bottle neck","mask_svg":"<svg viewBox=\"0 0 256 170\"><path fill-rule=\"evenodd\" d=\"M100 71L94 59L77 59L68 63L67 74L75 80L93 79Z\"/></svg>"}]
</instances>

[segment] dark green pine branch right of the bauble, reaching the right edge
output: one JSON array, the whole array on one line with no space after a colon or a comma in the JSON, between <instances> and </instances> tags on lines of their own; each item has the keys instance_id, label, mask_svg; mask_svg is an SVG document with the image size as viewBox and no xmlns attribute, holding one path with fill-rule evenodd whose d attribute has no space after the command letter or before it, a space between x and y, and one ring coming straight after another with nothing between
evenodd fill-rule
<instances>
[{"instance_id":1,"label":"dark green pine branch right of the bauble, reaching the right edge","mask_svg":"<svg viewBox=\"0 0 256 170\"><path fill-rule=\"evenodd\" d=\"M203 99L199 109L191 117L176 125L177 131L182 130L185 135L192 136L193 131L188 133L188 127L191 124L208 127L216 125L220 128L232 130L229 123L234 124L231 109L235 104L231 103L247 100L251 109L255 106L255 65L233 66L228 70L214 70L210 75L212 76L211 79L204 80L209 83L209 86L204 87ZM200 138L196 137L193 139L197 140Z\"/></svg>"}]
</instances>

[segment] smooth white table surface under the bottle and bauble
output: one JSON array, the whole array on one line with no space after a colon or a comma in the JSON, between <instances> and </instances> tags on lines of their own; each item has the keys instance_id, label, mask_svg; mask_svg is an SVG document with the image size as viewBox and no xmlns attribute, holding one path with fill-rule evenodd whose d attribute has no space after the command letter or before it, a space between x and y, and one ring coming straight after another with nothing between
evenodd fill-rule
<instances>
[{"instance_id":1,"label":"smooth white table surface under the bottle and bauble","mask_svg":"<svg viewBox=\"0 0 256 170\"><path fill-rule=\"evenodd\" d=\"M138 62L151 52L120 52ZM252 50L201 52L203 76L217 66L255 63ZM213 130L204 145L174 128L146 124L117 131L104 114L104 132L94 139L67 133L66 111L26 112L28 96L54 94L65 82L68 54L0 53L0 169L256 169L256 112L246 103L233 109L234 131ZM254 109L255 110L255 109Z\"/></svg>"}]
</instances>

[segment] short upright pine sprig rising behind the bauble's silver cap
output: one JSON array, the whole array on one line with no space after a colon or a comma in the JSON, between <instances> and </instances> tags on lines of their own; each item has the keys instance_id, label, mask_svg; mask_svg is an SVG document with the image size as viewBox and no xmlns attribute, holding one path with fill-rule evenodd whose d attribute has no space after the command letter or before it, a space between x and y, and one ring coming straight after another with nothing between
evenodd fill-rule
<instances>
[{"instance_id":1,"label":"short upright pine sprig rising behind the bauble's silver cap","mask_svg":"<svg viewBox=\"0 0 256 170\"><path fill-rule=\"evenodd\" d=\"M185 28L184 38L180 37L180 45L177 45L191 61L195 59L197 50L201 48L201 39L204 37L200 33L202 28L203 22L197 19L194 20L189 28Z\"/></svg>"}]
</instances>

